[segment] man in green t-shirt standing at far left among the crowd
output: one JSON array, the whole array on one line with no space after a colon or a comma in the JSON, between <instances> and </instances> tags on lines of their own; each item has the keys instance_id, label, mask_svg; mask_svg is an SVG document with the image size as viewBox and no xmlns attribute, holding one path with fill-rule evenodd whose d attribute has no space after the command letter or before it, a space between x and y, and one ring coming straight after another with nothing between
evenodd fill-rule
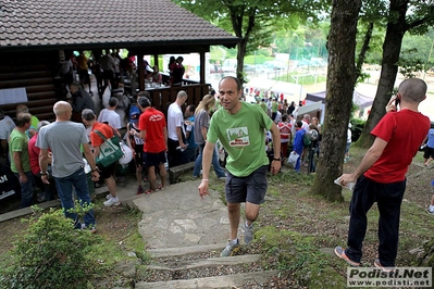
<instances>
[{"instance_id":1,"label":"man in green t-shirt standing at far left among the crowd","mask_svg":"<svg viewBox=\"0 0 434 289\"><path fill-rule=\"evenodd\" d=\"M11 169L20 180L21 208L32 205L33 201L33 174L28 159L28 137L26 130L32 125L32 115L21 112L16 115L16 127L9 136L9 153Z\"/></svg>"}]
</instances>

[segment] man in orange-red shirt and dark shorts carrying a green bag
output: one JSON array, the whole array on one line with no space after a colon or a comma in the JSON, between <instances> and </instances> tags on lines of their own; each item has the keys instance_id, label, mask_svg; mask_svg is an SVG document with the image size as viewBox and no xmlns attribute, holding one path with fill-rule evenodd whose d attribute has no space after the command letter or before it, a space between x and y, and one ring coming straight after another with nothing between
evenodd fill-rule
<instances>
[{"instance_id":1,"label":"man in orange-red shirt and dark shorts carrying a green bag","mask_svg":"<svg viewBox=\"0 0 434 289\"><path fill-rule=\"evenodd\" d=\"M90 131L90 143L94 147L94 158L97 160L97 156L100 153L100 146L104 142L104 140L97 134L95 130L101 133L106 139L112 138L114 136L114 129L107 124L98 123L97 116L95 115L92 110L85 109L82 112L83 123L87 127L91 127ZM109 166L98 166L100 171L100 176L103 178L107 188L109 189L110 194L108 196L108 200L104 202L106 206L120 205L121 202L116 196L116 183L114 181L114 172L116 168L116 162Z\"/></svg>"}]
</instances>

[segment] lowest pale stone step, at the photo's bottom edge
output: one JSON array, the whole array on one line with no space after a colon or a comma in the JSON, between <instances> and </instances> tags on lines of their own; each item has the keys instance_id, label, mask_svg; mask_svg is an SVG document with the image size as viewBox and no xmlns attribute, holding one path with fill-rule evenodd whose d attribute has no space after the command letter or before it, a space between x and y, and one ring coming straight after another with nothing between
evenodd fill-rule
<instances>
[{"instance_id":1,"label":"lowest pale stone step, at the photo's bottom edge","mask_svg":"<svg viewBox=\"0 0 434 289\"><path fill-rule=\"evenodd\" d=\"M195 278L189 280L172 280L145 282L140 281L135 285L136 289L189 289L189 288L238 288L246 282L261 284L273 276L278 275L280 271L252 272L244 274L224 275L206 278Z\"/></svg>"}]
</instances>

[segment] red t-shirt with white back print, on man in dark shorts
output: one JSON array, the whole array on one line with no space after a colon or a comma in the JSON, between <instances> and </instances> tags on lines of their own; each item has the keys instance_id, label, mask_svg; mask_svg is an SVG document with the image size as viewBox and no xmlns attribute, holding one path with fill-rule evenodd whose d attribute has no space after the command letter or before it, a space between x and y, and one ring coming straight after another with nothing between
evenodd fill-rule
<instances>
[{"instance_id":1,"label":"red t-shirt with white back print, on man in dark shorts","mask_svg":"<svg viewBox=\"0 0 434 289\"><path fill-rule=\"evenodd\" d=\"M153 108L148 108L140 114L138 128L146 131L144 151L159 153L165 151L164 114Z\"/></svg>"}]
</instances>

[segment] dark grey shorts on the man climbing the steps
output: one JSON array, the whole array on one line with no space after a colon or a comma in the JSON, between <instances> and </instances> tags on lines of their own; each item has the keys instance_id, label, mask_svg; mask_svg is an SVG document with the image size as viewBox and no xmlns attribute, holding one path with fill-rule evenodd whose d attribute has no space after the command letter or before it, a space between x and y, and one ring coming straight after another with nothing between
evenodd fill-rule
<instances>
[{"instance_id":1,"label":"dark grey shorts on the man climbing the steps","mask_svg":"<svg viewBox=\"0 0 434 289\"><path fill-rule=\"evenodd\" d=\"M263 165L247 177L236 177L227 172L226 202L261 204L266 192L268 166Z\"/></svg>"}]
</instances>

